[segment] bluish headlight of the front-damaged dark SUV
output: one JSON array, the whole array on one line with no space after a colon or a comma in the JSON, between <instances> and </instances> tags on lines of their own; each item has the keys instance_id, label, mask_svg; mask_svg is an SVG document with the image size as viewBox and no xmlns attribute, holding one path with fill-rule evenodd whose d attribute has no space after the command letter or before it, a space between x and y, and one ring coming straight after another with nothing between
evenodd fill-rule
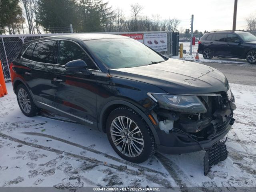
<instances>
[{"instance_id":1,"label":"bluish headlight of the front-damaged dark SUV","mask_svg":"<svg viewBox=\"0 0 256 192\"><path fill-rule=\"evenodd\" d=\"M148 96L158 102L160 108L187 112L187 113L206 113L204 104L197 96L193 95L170 95L148 93Z\"/></svg>"}]
</instances>

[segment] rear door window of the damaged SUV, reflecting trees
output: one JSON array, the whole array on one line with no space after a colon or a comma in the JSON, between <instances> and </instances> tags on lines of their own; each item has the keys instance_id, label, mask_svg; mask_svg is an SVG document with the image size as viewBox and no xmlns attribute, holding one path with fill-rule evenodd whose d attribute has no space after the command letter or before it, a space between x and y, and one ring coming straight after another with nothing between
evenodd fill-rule
<instances>
[{"instance_id":1,"label":"rear door window of the damaged SUV, reflecting trees","mask_svg":"<svg viewBox=\"0 0 256 192\"><path fill-rule=\"evenodd\" d=\"M54 46L56 41L44 41L36 44L31 60L42 63L54 63Z\"/></svg>"}]
</instances>

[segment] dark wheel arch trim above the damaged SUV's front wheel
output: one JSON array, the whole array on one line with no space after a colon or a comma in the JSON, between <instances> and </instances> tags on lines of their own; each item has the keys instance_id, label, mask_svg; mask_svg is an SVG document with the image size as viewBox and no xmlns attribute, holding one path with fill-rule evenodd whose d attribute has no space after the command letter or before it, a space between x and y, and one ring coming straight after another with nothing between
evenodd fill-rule
<instances>
[{"instance_id":1,"label":"dark wheel arch trim above the damaged SUV's front wheel","mask_svg":"<svg viewBox=\"0 0 256 192\"><path fill-rule=\"evenodd\" d=\"M99 131L106 133L106 120L108 118L108 114L110 114L110 112L112 110L114 110L118 107L122 107L122 106L131 108L132 110L136 111L146 121L146 123L150 127L156 144L160 144L160 140L158 138L156 128L154 127L154 125L152 124L152 122L150 121L148 116L134 104L127 102L127 101L123 101L123 100L114 100L114 101L110 101L107 104L105 104L105 106L102 108L102 110L100 112L100 119L99 119L99 123L98 123Z\"/></svg>"}]
</instances>

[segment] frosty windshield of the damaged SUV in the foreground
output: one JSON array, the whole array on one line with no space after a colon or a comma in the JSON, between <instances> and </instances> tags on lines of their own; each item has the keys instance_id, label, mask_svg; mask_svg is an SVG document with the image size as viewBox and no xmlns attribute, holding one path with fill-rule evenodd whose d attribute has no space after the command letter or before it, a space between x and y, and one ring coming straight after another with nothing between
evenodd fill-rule
<instances>
[{"instance_id":1,"label":"frosty windshield of the damaged SUV in the foreground","mask_svg":"<svg viewBox=\"0 0 256 192\"><path fill-rule=\"evenodd\" d=\"M137 40L130 38L87 40L88 49L112 69L138 67L165 59Z\"/></svg>"}]
</instances>

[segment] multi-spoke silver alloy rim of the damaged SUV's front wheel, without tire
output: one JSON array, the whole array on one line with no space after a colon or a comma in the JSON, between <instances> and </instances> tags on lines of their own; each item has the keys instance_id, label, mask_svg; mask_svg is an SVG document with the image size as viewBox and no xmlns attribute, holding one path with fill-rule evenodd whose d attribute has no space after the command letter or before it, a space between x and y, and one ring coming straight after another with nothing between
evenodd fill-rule
<instances>
[{"instance_id":1,"label":"multi-spoke silver alloy rim of the damaged SUV's front wheel, without tire","mask_svg":"<svg viewBox=\"0 0 256 192\"><path fill-rule=\"evenodd\" d=\"M142 153L144 139L140 128L128 117L116 117L110 126L110 135L116 148L125 156L136 157Z\"/></svg>"}]
</instances>

